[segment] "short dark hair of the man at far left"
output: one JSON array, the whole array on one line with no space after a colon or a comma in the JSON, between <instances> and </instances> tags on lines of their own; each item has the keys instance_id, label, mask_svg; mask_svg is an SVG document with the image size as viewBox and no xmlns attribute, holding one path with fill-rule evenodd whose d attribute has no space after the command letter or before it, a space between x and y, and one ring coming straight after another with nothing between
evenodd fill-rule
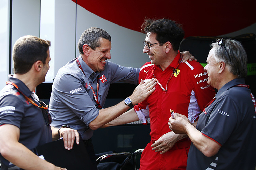
<instances>
[{"instance_id":1,"label":"short dark hair of the man at far left","mask_svg":"<svg viewBox=\"0 0 256 170\"><path fill-rule=\"evenodd\" d=\"M50 41L42 40L36 36L20 37L13 46L14 73L27 73L38 60L45 64L50 46Z\"/></svg>"}]
</instances>

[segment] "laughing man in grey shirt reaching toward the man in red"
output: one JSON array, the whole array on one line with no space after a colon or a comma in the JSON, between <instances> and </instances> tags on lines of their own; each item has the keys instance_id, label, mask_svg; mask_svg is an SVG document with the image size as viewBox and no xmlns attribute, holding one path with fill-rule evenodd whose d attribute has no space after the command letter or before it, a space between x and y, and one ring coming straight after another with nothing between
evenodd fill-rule
<instances>
[{"instance_id":1,"label":"laughing man in grey shirt reaching toward the man in red","mask_svg":"<svg viewBox=\"0 0 256 170\"><path fill-rule=\"evenodd\" d=\"M99 28L85 30L79 39L78 49L80 56L67 63L56 75L49 112L52 126L69 125L82 135L96 167L91 144L93 131L142 102L155 90L156 82L152 79L140 84L124 101L102 109L110 84L117 81L138 84L140 69L106 61L111 58L111 37Z\"/></svg>"}]
</instances>

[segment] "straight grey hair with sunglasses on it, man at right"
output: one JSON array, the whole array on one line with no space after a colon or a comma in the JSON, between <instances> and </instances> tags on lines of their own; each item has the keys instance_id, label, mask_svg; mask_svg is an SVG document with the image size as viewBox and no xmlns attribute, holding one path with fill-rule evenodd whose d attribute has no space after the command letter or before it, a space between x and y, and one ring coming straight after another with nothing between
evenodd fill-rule
<instances>
[{"instance_id":1,"label":"straight grey hair with sunglasses on it, man at right","mask_svg":"<svg viewBox=\"0 0 256 170\"><path fill-rule=\"evenodd\" d=\"M226 63L229 66L229 72L236 75L237 78L246 78L248 59L243 45L237 40L222 39L226 51L222 47L223 45L218 44L220 40L217 39L215 43L211 44L211 47L214 48L215 55L213 56L216 62Z\"/></svg>"}]
</instances>

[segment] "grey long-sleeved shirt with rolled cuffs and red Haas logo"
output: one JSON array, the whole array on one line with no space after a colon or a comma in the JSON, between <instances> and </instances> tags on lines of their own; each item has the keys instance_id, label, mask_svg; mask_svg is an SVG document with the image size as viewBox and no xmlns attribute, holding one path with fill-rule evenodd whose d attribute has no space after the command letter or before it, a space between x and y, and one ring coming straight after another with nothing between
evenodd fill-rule
<instances>
[{"instance_id":1,"label":"grey long-sleeved shirt with rolled cuffs and red Haas logo","mask_svg":"<svg viewBox=\"0 0 256 170\"><path fill-rule=\"evenodd\" d=\"M104 71L94 72L85 64L81 56L78 60L85 75L78 67L76 59L58 71L53 82L49 113L52 116L51 126L69 125L87 140L93 135L93 130L88 125L99 114L90 85L96 93L97 76L99 76L98 100L104 107L110 84L117 81L138 84L140 69L107 61Z\"/></svg>"}]
</instances>

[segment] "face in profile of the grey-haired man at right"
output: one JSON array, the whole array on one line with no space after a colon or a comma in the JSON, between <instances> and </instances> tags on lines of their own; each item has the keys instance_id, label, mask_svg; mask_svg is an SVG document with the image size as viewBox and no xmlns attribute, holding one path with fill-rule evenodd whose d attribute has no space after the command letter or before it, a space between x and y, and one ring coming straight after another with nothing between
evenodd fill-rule
<instances>
[{"instance_id":1,"label":"face in profile of the grey-haired man at right","mask_svg":"<svg viewBox=\"0 0 256 170\"><path fill-rule=\"evenodd\" d=\"M208 80L207 83L213 86L214 88L217 88L217 80L218 80L218 62L216 62L214 57L214 48L212 48L208 54L207 57L207 65L204 67L204 70L208 74Z\"/></svg>"}]
</instances>

